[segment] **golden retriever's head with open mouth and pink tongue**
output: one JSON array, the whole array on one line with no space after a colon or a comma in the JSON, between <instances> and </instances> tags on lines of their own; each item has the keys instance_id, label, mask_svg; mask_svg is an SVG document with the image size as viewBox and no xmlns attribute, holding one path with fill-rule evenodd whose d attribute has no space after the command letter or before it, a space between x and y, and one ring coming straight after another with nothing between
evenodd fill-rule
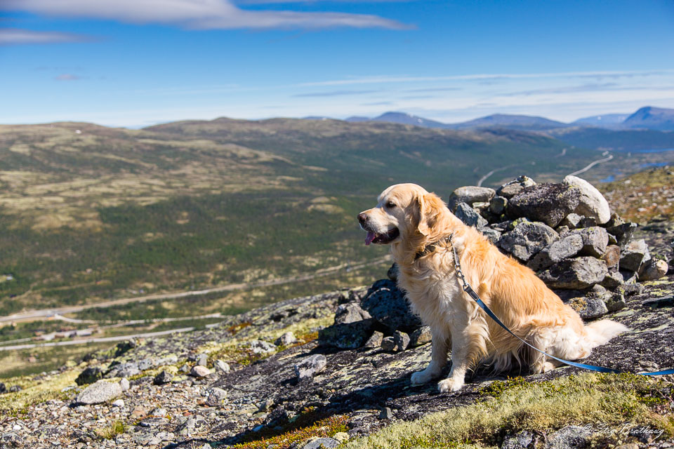
<instances>
[{"instance_id":1,"label":"golden retriever's head with open mouth and pink tongue","mask_svg":"<svg viewBox=\"0 0 674 449\"><path fill-rule=\"evenodd\" d=\"M433 233L442 200L416 184L397 184L379 195L377 206L364 210L358 221L367 232L365 244L394 243Z\"/></svg>"}]
</instances>

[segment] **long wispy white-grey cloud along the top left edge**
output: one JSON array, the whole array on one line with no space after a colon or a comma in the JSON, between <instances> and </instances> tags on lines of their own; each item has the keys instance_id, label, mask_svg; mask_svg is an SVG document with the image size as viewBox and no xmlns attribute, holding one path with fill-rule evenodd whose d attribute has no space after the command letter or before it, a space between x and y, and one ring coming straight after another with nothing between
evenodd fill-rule
<instances>
[{"instance_id":1,"label":"long wispy white-grey cloud along the top left edge","mask_svg":"<svg viewBox=\"0 0 674 449\"><path fill-rule=\"evenodd\" d=\"M249 11L229 0L4 0L0 9L57 17L163 23L188 29L411 28L397 20L369 14Z\"/></svg>"}]
</instances>

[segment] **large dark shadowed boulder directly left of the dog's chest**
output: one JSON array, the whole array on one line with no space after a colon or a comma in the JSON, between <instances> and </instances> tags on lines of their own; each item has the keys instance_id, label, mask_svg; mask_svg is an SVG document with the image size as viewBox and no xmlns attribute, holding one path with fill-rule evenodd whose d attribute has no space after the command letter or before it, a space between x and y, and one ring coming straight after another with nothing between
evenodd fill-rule
<instances>
[{"instance_id":1,"label":"large dark shadowed boulder directly left of the dog's chest","mask_svg":"<svg viewBox=\"0 0 674 449\"><path fill-rule=\"evenodd\" d=\"M411 333L422 326L418 316L412 313L405 294L397 288L395 282L388 279L376 281L367 290L361 306L373 319L390 330ZM371 330L368 329L362 342L370 335Z\"/></svg>"}]
</instances>

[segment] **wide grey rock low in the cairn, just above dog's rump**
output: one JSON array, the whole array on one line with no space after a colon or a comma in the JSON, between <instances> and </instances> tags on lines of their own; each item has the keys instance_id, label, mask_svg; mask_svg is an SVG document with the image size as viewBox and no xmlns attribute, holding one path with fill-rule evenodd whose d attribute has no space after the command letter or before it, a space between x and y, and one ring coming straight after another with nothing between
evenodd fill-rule
<instances>
[{"instance_id":1,"label":"wide grey rock low in the cairn, just above dog's rump","mask_svg":"<svg viewBox=\"0 0 674 449\"><path fill-rule=\"evenodd\" d=\"M595 257L574 257L557 262L540 277L553 288L588 288L604 280L608 273L606 262Z\"/></svg>"}]
</instances>

